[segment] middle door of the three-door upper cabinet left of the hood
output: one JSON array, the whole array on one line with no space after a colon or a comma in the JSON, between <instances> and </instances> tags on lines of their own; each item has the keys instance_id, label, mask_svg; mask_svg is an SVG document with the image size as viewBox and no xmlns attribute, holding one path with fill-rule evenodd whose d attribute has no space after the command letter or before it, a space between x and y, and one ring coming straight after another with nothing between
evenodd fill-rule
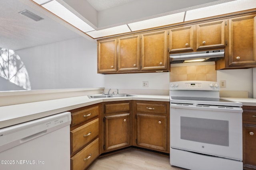
<instances>
[{"instance_id":1,"label":"middle door of the three-door upper cabinet left of the hood","mask_svg":"<svg viewBox=\"0 0 256 170\"><path fill-rule=\"evenodd\" d=\"M118 71L140 70L140 36L118 39Z\"/></svg>"}]
</instances>

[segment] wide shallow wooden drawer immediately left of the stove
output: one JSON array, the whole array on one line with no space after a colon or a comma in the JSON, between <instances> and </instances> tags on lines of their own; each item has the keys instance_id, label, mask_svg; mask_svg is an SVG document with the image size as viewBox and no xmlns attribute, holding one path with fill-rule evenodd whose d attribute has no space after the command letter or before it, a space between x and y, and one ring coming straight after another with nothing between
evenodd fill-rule
<instances>
[{"instance_id":1,"label":"wide shallow wooden drawer immediately left of the stove","mask_svg":"<svg viewBox=\"0 0 256 170\"><path fill-rule=\"evenodd\" d=\"M136 111L166 114L167 106L166 104L136 103Z\"/></svg>"}]
</instances>

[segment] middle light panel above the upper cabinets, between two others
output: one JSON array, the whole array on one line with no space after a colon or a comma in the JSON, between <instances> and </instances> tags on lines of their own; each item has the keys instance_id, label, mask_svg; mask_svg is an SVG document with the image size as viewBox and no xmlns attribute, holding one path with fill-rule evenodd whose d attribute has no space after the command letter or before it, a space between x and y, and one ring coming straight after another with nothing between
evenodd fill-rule
<instances>
[{"instance_id":1,"label":"middle light panel above the upper cabinets, between two others","mask_svg":"<svg viewBox=\"0 0 256 170\"><path fill-rule=\"evenodd\" d=\"M185 12L180 12L180 13L171 14L168 16L162 16L158 18L152 18L149 20L129 23L128 26L132 31L138 31L138 30L148 29L153 27L160 27L164 25L170 25L172 23L183 22L184 15L185 15Z\"/></svg>"}]
</instances>

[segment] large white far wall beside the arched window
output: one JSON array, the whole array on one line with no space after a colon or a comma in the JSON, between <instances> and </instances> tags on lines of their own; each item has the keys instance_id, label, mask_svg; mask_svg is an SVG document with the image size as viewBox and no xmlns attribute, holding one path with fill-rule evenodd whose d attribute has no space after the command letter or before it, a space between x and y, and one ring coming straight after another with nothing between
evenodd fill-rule
<instances>
[{"instance_id":1,"label":"large white far wall beside the arched window","mask_svg":"<svg viewBox=\"0 0 256 170\"><path fill-rule=\"evenodd\" d=\"M97 74L97 43L83 37L16 51L32 90L104 87Z\"/></svg>"}]
</instances>

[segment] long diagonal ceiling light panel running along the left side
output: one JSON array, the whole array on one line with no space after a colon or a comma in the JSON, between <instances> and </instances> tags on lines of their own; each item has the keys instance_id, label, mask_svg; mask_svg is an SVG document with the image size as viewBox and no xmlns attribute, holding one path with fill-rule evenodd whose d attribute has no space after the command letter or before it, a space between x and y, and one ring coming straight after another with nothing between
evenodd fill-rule
<instances>
[{"instance_id":1,"label":"long diagonal ceiling light panel running along the left side","mask_svg":"<svg viewBox=\"0 0 256 170\"><path fill-rule=\"evenodd\" d=\"M42 1L39 1L39 0L34 0L34 1L38 4L39 4L39 2L42 4ZM47 10L49 10L56 16L60 17L62 20L70 23L71 25L80 29L83 32L94 30L94 28L92 28L86 22L81 20L78 16L76 16L70 10L68 10L67 8L62 6L62 4L60 4L56 0L46 2L46 3L42 4L42 7L46 8Z\"/></svg>"}]
</instances>

